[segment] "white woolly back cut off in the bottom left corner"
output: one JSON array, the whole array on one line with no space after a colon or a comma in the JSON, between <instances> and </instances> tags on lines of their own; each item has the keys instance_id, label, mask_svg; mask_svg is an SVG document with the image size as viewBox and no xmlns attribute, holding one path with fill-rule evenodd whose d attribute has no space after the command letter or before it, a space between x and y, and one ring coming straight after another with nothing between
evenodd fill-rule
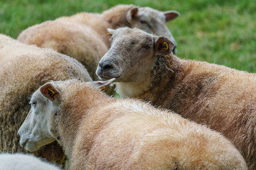
<instances>
[{"instance_id":1,"label":"white woolly back cut off in the bottom left corner","mask_svg":"<svg viewBox=\"0 0 256 170\"><path fill-rule=\"evenodd\" d=\"M43 162L33 154L0 154L0 170L60 170L57 166Z\"/></svg>"}]
</instances>

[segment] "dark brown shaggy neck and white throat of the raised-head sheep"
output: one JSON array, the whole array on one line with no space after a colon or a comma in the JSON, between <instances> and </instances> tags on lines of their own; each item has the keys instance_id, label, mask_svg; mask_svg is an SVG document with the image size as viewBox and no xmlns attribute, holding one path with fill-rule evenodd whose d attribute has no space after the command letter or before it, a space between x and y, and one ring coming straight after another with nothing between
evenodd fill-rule
<instances>
[{"instance_id":1,"label":"dark brown shaggy neck and white throat of the raised-head sheep","mask_svg":"<svg viewBox=\"0 0 256 170\"><path fill-rule=\"evenodd\" d=\"M156 58L154 67L144 73L143 81L119 82L117 83L117 93L122 97L129 96L154 101L159 91L163 91L165 86L169 86L170 80L174 81L181 72L181 60L175 55L164 57L159 55Z\"/></svg>"}]
</instances>

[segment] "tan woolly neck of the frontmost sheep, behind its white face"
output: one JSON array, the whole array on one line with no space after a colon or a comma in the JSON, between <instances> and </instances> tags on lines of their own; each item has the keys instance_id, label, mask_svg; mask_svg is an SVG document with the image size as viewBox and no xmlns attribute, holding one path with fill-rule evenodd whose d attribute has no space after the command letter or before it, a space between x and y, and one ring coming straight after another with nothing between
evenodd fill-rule
<instances>
[{"instance_id":1,"label":"tan woolly neck of the frontmost sheep, behind its white face","mask_svg":"<svg viewBox=\"0 0 256 170\"><path fill-rule=\"evenodd\" d=\"M58 126L58 134L60 139L58 142L65 150L65 154L70 159L75 145L82 121L93 108L104 105L105 102L110 101L111 98L102 94L97 89L90 89L86 91L76 91L72 96L65 98L60 104L60 115L55 122Z\"/></svg>"}]
</instances>

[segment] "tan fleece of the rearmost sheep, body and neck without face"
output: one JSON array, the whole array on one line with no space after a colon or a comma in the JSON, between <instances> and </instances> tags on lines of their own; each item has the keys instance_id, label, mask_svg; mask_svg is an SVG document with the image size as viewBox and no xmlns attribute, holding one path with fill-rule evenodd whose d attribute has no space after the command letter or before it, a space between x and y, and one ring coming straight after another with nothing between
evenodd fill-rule
<instances>
[{"instance_id":1,"label":"tan fleece of the rearmost sheep, body and neck without face","mask_svg":"<svg viewBox=\"0 0 256 170\"><path fill-rule=\"evenodd\" d=\"M97 64L110 46L107 28L129 26L126 15L132 7L119 5L102 14L78 13L46 21L23 30L18 40L74 57L85 65L92 79L97 79Z\"/></svg>"}]
</instances>

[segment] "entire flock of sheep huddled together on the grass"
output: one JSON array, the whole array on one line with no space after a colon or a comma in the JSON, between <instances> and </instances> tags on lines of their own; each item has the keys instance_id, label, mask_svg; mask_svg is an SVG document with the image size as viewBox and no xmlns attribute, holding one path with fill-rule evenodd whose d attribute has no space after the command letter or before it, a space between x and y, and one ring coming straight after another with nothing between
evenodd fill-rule
<instances>
[{"instance_id":1,"label":"entire flock of sheep huddled together on the grass","mask_svg":"<svg viewBox=\"0 0 256 170\"><path fill-rule=\"evenodd\" d=\"M0 152L70 170L256 169L256 75L176 57L178 15L119 5L0 35ZM0 154L24 167L60 169Z\"/></svg>"}]
</instances>

